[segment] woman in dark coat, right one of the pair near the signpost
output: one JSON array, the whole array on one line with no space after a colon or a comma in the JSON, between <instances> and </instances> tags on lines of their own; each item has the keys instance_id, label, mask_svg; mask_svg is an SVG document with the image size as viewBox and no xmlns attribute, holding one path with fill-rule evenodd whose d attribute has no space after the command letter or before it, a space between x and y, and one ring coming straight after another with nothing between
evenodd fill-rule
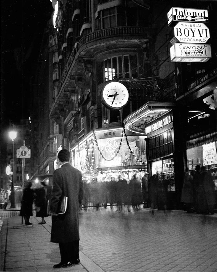
<instances>
[{"instance_id":1,"label":"woman in dark coat, right one of the pair near the signpost","mask_svg":"<svg viewBox=\"0 0 217 272\"><path fill-rule=\"evenodd\" d=\"M35 210L36 217L41 217L42 221L39 225L46 224L44 218L47 216L47 188L46 184L42 181L41 187L35 189Z\"/></svg>"}]
</instances>

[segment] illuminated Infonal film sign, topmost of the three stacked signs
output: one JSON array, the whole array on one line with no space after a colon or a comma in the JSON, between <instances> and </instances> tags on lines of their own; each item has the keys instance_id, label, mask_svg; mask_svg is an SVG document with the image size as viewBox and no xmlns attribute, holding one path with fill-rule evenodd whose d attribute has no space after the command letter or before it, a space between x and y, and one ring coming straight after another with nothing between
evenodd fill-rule
<instances>
[{"instance_id":1,"label":"illuminated Infonal film sign, topmost of the three stacked signs","mask_svg":"<svg viewBox=\"0 0 217 272\"><path fill-rule=\"evenodd\" d=\"M167 13L168 25L171 22L208 22L208 11L172 7Z\"/></svg>"}]
</instances>

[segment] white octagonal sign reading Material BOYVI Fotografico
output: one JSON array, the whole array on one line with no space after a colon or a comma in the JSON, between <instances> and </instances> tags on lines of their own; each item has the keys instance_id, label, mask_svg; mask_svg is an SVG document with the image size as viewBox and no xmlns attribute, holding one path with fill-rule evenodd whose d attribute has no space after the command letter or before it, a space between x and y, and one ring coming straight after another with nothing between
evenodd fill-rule
<instances>
[{"instance_id":1,"label":"white octagonal sign reading Material BOYVI Fotografico","mask_svg":"<svg viewBox=\"0 0 217 272\"><path fill-rule=\"evenodd\" d=\"M206 43L210 38L210 31L203 23L179 22L174 26L174 36L180 42Z\"/></svg>"}]
</instances>

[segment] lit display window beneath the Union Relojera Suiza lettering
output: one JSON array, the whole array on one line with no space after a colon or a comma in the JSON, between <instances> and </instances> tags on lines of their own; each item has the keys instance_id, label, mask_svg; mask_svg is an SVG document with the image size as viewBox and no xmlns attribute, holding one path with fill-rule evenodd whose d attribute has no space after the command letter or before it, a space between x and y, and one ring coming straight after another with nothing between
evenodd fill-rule
<instances>
[{"instance_id":1,"label":"lit display window beneath the Union Relojera Suiza lettering","mask_svg":"<svg viewBox=\"0 0 217 272\"><path fill-rule=\"evenodd\" d=\"M157 174L167 191L175 191L173 158L154 161L151 163L152 175Z\"/></svg>"}]
</instances>

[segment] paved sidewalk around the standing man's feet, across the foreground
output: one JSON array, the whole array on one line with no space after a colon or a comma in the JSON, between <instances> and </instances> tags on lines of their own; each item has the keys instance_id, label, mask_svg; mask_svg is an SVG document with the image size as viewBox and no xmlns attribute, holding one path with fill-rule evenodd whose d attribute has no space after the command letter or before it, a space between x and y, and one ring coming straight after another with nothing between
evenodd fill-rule
<instances>
[{"instance_id":1,"label":"paved sidewalk around the standing man's feet, across the foreground","mask_svg":"<svg viewBox=\"0 0 217 272\"><path fill-rule=\"evenodd\" d=\"M50 242L51 217L44 225L35 216L30 221L3 219L4 271L217 271L217 214L89 208L80 212L80 264L59 270L52 268L60 256Z\"/></svg>"}]
</instances>

